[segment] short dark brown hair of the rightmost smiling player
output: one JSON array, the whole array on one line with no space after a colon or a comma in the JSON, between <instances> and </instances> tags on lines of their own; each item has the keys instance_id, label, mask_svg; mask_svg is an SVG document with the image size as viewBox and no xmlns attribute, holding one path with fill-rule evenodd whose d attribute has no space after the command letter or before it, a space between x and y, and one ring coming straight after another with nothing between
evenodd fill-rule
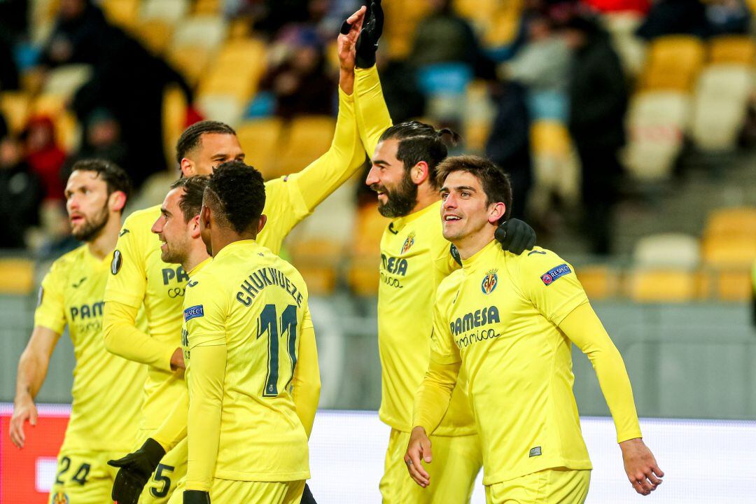
<instances>
[{"instance_id":1,"label":"short dark brown hair of the rightmost smiling player","mask_svg":"<svg viewBox=\"0 0 756 504\"><path fill-rule=\"evenodd\" d=\"M506 221L512 215L512 182L496 163L480 156L452 156L446 158L438 165L438 187L444 185L444 181L453 172L468 172L475 176L485 193L486 205L503 203L507 207L501 221Z\"/></svg>"}]
</instances>

